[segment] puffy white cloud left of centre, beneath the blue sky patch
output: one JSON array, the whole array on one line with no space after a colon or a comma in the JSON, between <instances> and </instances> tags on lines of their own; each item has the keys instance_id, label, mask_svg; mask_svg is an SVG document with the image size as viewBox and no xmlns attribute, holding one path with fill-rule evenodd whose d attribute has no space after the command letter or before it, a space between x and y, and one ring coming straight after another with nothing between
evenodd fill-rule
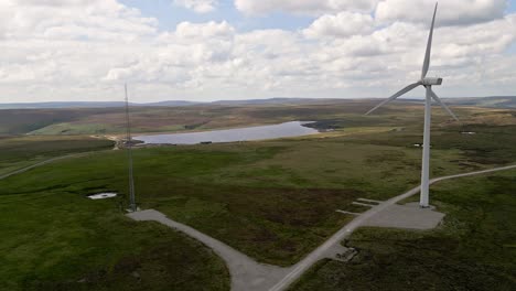
<instances>
[{"instance_id":1,"label":"puffy white cloud left of centre, beneath the blue sky patch","mask_svg":"<svg viewBox=\"0 0 516 291\"><path fill-rule=\"evenodd\" d=\"M235 29L227 22L178 24L174 32L157 36L152 54L109 69L104 80L170 82L187 86L202 67L227 62L233 52Z\"/></svg>"}]
</instances>

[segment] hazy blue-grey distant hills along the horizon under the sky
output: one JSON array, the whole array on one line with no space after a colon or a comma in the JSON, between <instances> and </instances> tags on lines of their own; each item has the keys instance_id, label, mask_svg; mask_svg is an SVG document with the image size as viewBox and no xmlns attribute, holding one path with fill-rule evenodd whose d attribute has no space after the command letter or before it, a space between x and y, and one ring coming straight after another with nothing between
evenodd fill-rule
<instances>
[{"instance_id":1,"label":"hazy blue-grey distant hills along the horizon under the sky","mask_svg":"<svg viewBox=\"0 0 516 291\"><path fill-rule=\"evenodd\" d=\"M248 100L219 100L213 103L194 103L185 100L168 100L160 103L135 104L131 107L186 107L195 105L215 106L260 106L260 105L318 105L332 103L354 103L372 99L318 99L318 98L270 98ZM377 99L380 100L380 99ZM516 96L493 96L474 98L447 98L447 104L454 106L477 106L490 108L516 108ZM417 99L404 99L405 103L421 103ZM125 103L19 103L0 104L0 109L61 109L61 108L116 108L123 107Z\"/></svg>"}]
</instances>

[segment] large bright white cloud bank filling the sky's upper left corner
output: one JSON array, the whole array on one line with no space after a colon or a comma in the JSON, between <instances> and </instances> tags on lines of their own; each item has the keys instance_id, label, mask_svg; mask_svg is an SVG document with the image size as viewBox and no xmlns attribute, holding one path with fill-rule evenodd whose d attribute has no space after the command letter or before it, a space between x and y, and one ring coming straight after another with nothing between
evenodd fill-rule
<instances>
[{"instance_id":1,"label":"large bright white cloud bank filling the sky's upper left corner","mask_svg":"<svg viewBox=\"0 0 516 291\"><path fill-rule=\"evenodd\" d=\"M1 91L11 93L2 94L4 101L100 90L101 75L138 54L138 42L154 35L158 24L116 0L8 0L0 2L0 19Z\"/></svg>"}]
</instances>

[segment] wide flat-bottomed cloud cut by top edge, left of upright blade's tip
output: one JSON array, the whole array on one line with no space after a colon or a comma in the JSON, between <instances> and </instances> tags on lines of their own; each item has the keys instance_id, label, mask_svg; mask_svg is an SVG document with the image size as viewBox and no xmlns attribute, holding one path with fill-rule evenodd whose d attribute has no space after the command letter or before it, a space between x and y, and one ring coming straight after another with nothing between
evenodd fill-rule
<instances>
[{"instance_id":1,"label":"wide flat-bottomed cloud cut by top edge, left of upright blade's tip","mask_svg":"<svg viewBox=\"0 0 516 291\"><path fill-rule=\"evenodd\" d=\"M377 0L235 0L235 7L246 14L283 11L301 14L335 13L345 10L374 10Z\"/></svg>"}]
</instances>

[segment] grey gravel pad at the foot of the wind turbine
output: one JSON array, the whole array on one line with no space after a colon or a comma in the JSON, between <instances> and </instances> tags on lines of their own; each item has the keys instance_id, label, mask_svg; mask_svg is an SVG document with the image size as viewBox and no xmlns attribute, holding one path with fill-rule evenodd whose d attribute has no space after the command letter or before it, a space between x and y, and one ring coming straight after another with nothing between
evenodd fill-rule
<instances>
[{"instance_id":1,"label":"grey gravel pad at the foot of the wind turbine","mask_svg":"<svg viewBox=\"0 0 516 291\"><path fill-rule=\"evenodd\" d=\"M419 203L394 204L367 219L364 226L432 229L441 223L444 214L436 212L436 207L421 208Z\"/></svg>"}]
</instances>

